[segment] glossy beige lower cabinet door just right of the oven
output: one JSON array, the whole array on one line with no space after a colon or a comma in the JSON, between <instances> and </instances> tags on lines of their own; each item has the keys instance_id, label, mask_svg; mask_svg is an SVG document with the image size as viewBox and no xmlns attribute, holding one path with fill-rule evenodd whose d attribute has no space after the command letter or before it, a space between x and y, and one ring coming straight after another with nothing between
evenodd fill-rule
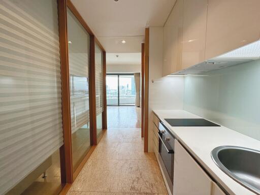
<instances>
[{"instance_id":1,"label":"glossy beige lower cabinet door just right of the oven","mask_svg":"<svg viewBox=\"0 0 260 195\"><path fill-rule=\"evenodd\" d=\"M212 187L215 192L212 191ZM175 140L173 194L224 194L177 140Z\"/></svg>"}]
</instances>

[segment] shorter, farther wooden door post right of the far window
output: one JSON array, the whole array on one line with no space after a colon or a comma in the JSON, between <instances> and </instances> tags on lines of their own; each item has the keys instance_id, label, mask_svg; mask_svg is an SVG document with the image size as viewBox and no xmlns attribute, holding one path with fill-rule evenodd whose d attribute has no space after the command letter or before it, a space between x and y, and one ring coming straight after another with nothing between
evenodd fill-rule
<instances>
[{"instance_id":1,"label":"shorter, farther wooden door post right of the far window","mask_svg":"<svg viewBox=\"0 0 260 195\"><path fill-rule=\"evenodd\" d=\"M141 67L141 138L144 137L144 48L145 43L142 43L142 67Z\"/></svg>"}]
</instances>

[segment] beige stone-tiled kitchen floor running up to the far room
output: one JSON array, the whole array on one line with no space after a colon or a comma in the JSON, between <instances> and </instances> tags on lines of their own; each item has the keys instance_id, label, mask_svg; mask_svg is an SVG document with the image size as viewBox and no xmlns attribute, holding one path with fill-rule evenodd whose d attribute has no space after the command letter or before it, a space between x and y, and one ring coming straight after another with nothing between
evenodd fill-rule
<instances>
[{"instance_id":1,"label":"beige stone-tiled kitchen floor running up to the far room","mask_svg":"<svg viewBox=\"0 0 260 195\"><path fill-rule=\"evenodd\" d=\"M143 152L141 129L113 127L104 134L67 194L168 193L154 153Z\"/></svg>"}]
</instances>

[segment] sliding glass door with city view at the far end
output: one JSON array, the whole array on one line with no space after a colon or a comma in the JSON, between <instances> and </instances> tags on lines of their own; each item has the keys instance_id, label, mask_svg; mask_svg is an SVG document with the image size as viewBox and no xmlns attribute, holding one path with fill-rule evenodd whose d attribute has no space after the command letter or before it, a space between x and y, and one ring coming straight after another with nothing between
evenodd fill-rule
<instances>
[{"instance_id":1,"label":"sliding glass door with city view at the far end","mask_svg":"<svg viewBox=\"0 0 260 195\"><path fill-rule=\"evenodd\" d=\"M135 106L134 74L107 74L107 105Z\"/></svg>"}]
</instances>

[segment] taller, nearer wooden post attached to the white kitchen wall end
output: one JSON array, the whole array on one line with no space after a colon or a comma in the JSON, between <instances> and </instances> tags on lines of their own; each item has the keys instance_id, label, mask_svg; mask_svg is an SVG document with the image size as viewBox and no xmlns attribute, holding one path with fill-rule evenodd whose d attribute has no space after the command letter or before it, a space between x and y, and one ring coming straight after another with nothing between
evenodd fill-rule
<instances>
[{"instance_id":1,"label":"taller, nearer wooden post attached to the white kitchen wall end","mask_svg":"<svg viewBox=\"0 0 260 195\"><path fill-rule=\"evenodd\" d=\"M144 46L144 152L148 152L149 28L145 28Z\"/></svg>"}]
</instances>

